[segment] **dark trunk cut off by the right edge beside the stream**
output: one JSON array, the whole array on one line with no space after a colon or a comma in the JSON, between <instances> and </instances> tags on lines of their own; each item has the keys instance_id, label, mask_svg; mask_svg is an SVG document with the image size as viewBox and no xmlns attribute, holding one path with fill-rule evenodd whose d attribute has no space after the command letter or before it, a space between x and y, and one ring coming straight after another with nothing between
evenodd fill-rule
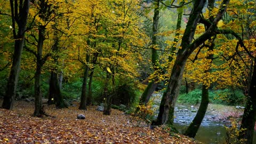
<instances>
[{"instance_id":1,"label":"dark trunk cut off by the right edge beside the stream","mask_svg":"<svg viewBox=\"0 0 256 144\"><path fill-rule=\"evenodd\" d=\"M241 123L241 129L245 129L239 133L239 139L246 139L247 144L253 143L253 132L256 121L256 58L254 58L253 73L247 97L246 106Z\"/></svg>"}]
</instances>

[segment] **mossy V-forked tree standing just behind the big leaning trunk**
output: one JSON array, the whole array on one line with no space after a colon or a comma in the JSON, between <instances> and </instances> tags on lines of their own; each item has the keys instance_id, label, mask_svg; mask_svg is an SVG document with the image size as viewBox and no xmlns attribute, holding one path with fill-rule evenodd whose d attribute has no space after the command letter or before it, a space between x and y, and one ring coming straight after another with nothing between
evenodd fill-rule
<instances>
[{"instance_id":1,"label":"mossy V-forked tree standing just behind the big leaning trunk","mask_svg":"<svg viewBox=\"0 0 256 144\"><path fill-rule=\"evenodd\" d=\"M159 83L161 83L163 81L164 77L163 75L166 73L166 64L160 63L159 58L158 58L158 50L159 50L159 45L157 41L159 41L159 34L158 34L158 21L159 21L159 10L161 9L160 7L160 3L163 3L161 1L154 1L154 17L153 17L153 35L151 36L151 61L152 61L152 65L153 68L155 70L155 73L153 74L153 76L150 76L151 78L151 82L149 82L149 84L147 85L145 91L142 93L141 98L140 98L140 105L147 105L151 95L153 94L153 92L155 91L157 85ZM180 29L181 29L181 20L182 20L182 13L183 13L183 4L184 2L182 1L180 3L180 6L167 6L163 3L164 6L166 7L170 7L170 8L177 8L178 7L178 18L177 18L177 25L176 25L176 31L175 31L175 35L174 35L174 39L173 42L170 43L168 40L166 41L166 43L170 43L170 50L166 49L164 51L170 51L170 53L168 53L168 62L171 63L173 60L173 57L177 51L177 45L178 45L178 41L179 41L179 36L180 36ZM167 47L167 46L166 46Z\"/></svg>"}]
</instances>

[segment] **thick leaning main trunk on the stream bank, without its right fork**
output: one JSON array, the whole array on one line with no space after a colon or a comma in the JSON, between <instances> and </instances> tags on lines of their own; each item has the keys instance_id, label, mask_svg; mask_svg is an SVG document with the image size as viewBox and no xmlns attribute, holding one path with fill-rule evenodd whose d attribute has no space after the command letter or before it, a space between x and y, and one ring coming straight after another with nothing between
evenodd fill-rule
<instances>
[{"instance_id":1,"label":"thick leaning main trunk on the stream bank, without its right fork","mask_svg":"<svg viewBox=\"0 0 256 144\"><path fill-rule=\"evenodd\" d=\"M203 10L205 2L206 0L200 0L195 1L194 3L193 11L190 14L185 33L182 37L182 49L180 49L177 53L177 58L174 62L166 91L164 92L160 103L157 119L156 121L153 121L152 125L173 125L174 106L179 95L180 84L186 61L189 55L196 49L195 47L197 47L193 45L193 49L190 50L188 46L191 44L194 38L196 26L200 19L200 14Z\"/></svg>"}]
</instances>

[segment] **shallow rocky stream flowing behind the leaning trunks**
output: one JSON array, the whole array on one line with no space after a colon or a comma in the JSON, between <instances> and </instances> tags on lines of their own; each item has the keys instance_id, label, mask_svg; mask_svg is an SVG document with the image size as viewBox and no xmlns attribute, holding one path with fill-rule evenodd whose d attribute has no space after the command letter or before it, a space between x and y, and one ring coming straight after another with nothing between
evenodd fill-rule
<instances>
[{"instance_id":1,"label":"shallow rocky stream flowing behind the leaning trunks","mask_svg":"<svg viewBox=\"0 0 256 144\"><path fill-rule=\"evenodd\" d=\"M156 94L156 103L160 103L159 94ZM156 97L155 97L156 98ZM157 106L154 106L157 107ZM159 107L159 105L158 105ZM194 106L176 105L174 109L174 126L180 133L186 131L188 125L193 121L197 108ZM226 128L230 123L225 119L218 119L217 116L207 111L195 139L203 143L226 143ZM158 112L156 111L156 114ZM157 116L157 115L156 115ZM254 131L253 142L256 143L256 132Z\"/></svg>"}]
</instances>

